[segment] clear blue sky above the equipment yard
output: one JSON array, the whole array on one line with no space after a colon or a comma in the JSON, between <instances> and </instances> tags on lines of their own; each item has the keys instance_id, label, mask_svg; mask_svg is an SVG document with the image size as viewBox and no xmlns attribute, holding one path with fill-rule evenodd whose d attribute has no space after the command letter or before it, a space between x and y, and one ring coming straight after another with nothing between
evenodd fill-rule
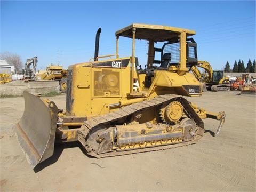
<instances>
[{"instance_id":1,"label":"clear blue sky above the equipment yard","mask_svg":"<svg viewBox=\"0 0 256 192\"><path fill-rule=\"evenodd\" d=\"M193 29L198 60L221 70L229 61L255 59L255 1L2 1L0 52L38 57L37 69L67 68L99 55L115 54L115 31L131 23ZM132 55L131 41L120 39L120 56ZM147 43L136 42L139 64L147 62Z\"/></svg>"}]
</instances>

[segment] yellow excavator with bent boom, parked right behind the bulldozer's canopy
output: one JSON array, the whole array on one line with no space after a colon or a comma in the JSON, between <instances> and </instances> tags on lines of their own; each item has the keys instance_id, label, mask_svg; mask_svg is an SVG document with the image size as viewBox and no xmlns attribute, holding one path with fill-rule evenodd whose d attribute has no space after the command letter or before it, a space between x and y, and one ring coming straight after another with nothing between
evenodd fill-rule
<instances>
[{"instance_id":1,"label":"yellow excavator with bent boom, parked right behind the bulldozer's canopy","mask_svg":"<svg viewBox=\"0 0 256 192\"><path fill-rule=\"evenodd\" d=\"M205 70L206 74L204 77L198 68ZM224 76L224 72L221 70L212 70L210 63L207 61L198 61L190 67L189 71L192 71L199 82L205 83L206 89L209 91L230 90L229 78Z\"/></svg>"}]
</instances>

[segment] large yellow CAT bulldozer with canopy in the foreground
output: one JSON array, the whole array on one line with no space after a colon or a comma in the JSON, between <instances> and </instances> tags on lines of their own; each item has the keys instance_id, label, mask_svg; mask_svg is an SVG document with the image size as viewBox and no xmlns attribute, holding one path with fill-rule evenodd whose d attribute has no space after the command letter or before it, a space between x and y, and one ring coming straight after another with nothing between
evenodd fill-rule
<instances>
[{"instance_id":1,"label":"large yellow CAT bulldozer with canopy in the foreground","mask_svg":"<svg viewBox=\"0 0 256 192\"><path fill-rule=\"evenodd\" d=\"M202 137L204 118L219 120L219 133L223 111L206 111L182 97L202 93L188 71L197 63L189 38L195 31L132 24L116 32L116 53L99 57L100 32L94 58L68 68L66 110L23 93L25 111L15 132L31 167L53 155L55 142L79 141L88 155L101 158L190 145ZM119 57L120 37L132 40L131 56ZM137 39L148 42L146 69L137 69Z\"/></svg>"}]
</instances>

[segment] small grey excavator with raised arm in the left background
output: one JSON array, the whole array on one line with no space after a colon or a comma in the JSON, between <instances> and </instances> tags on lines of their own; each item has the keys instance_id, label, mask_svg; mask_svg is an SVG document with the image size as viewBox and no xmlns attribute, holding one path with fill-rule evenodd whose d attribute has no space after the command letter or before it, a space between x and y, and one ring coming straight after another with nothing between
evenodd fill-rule
<instances>
[{"instance_id":1,"label":"small grey excavator with raised arm in the left background","mask_svg":"<svg viewBox=\"0 0 256 192\"><path fill-rule=\"evenodd\" d=\"M25 69L23 69L23 79L35 80L37 57L27 59Z\"/></svg>"}]
</instances>

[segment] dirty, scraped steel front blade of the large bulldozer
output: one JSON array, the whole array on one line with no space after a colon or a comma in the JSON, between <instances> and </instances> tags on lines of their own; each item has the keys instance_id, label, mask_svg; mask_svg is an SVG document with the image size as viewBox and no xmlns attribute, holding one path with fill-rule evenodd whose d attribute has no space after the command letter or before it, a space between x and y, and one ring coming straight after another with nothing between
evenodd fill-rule
<instances>
[{"instance_id":1,"label":"dirty, scraped steel front blade of the large bulldozer","mask_svg":"<svg viewBox=\"0 0 256 192\"><path fill-rule=\"evenodd\" d=\"M18 142L28 163L34 167L53 155L58 108L54 102L23 92L25 110L14 125Z\"/></svg>"}]
</instances>

